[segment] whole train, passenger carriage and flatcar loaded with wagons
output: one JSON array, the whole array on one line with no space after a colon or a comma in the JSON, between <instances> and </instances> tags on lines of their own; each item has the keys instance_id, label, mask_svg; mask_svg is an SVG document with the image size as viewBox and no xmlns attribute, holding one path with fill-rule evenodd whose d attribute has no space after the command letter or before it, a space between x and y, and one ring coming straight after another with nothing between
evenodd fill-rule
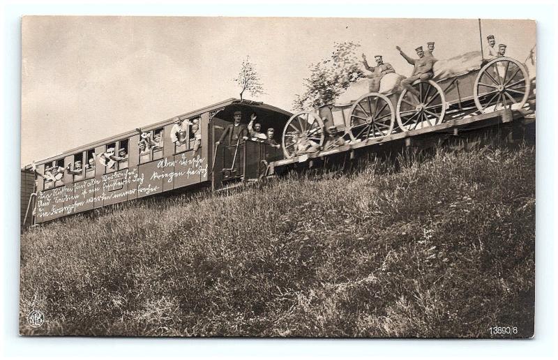
<instances>
[{"instance_id":1,"label":"whole train, passenger carriage and flatcar loaded with wagons","mask_svg":"<svg viewBox=\"0 0 558 360\"><path fill-rule=\"evenodd\" d=\"M477 64L471 54L472 67L458 59L461 70L439 67L432 80L414 82L418 96L380 87L296 114L229 98L40 160L22 169L22 225L174 190L220 190L331 153L534 114L535 77L523 63L498 57ZM275 131L252 136L254 118Z\"/></svg>"}]
</instances>

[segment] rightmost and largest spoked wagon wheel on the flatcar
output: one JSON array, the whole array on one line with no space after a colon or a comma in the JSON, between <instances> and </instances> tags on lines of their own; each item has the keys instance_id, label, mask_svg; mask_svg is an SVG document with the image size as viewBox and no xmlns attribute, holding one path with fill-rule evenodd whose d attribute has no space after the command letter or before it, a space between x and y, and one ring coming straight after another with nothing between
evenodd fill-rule
<instances>
[{"instance_id":1,"label":"rightmost and largest spoked wagon wheel on the flatcar","mask_svg":"<svg viewBox=\"0 0 558 360\"><path fill-rule=\"evenodd\" d=\"M476 75L473 95L481 112L520 109L529 97L529 75L515 59L500 57L487 63Z\"/></svg>"}]
</instances>

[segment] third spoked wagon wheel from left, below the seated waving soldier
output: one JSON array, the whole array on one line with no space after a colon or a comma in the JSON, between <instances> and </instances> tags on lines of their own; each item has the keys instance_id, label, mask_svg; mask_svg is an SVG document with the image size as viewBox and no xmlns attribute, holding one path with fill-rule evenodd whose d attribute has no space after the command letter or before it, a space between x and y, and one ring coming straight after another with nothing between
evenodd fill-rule
<instances>
[{"instance_id":1,"label":"third spoked wagon wheel from left, below the seated waving soldier","mask_svg":"<svg viewBox=\"0 0 558 360\"><path fill-rule=\"evenodd\" d=\"M395 115L399 128L409 131L442 123L446 114L446 96L442 88L432 80L417 80L412 86L418 95L403 89L397 102Z\"/></svg>"}]
</instances>

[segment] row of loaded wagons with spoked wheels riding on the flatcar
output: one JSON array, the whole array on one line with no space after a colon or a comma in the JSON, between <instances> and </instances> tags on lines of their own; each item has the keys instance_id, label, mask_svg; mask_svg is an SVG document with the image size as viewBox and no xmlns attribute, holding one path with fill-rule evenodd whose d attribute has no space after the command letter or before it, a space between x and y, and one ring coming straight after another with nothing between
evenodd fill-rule
<instances>
[{"instance_id":1,"label":"row of loaded wagons with spoked wheels riding on the flatcar","mask_svg":"<svg viewBox=\"0 0 558 360\"><path fill-rule=\"evenodd\" d=\"M451 68L448 63L452 61L458 66ZM446 63L437 61L436 65L432 80L412 84L419 96L393 81L395 77L400 81L400 75L388 74L377 92L361 91L354 100L338 99L294 114L282 133L285 157L319 153L339 144L387 137L474 114L518 110L529 98L527 69L510 57L499 57L481 66L480 52L470 52ZM384 81L395 86L382 91ZM368 80L361 82L367 85Z\"/></svg>"}]
</instances>

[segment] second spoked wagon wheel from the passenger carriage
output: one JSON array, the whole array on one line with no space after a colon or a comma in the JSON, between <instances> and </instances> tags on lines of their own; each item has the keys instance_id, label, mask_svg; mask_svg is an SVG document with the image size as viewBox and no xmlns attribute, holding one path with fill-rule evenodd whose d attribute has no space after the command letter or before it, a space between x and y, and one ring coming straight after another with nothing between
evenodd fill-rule
<instances>
[{"instance_id":1,"label":"second spoked wagon wheel from the passenger carriage","mask_svg":"<svg viewBox=\"0 0 558 360\"><path fill-rule=\"evenodd\" d=\"M368 140L391 134L395 111L391 100L381 93L367 93L351 109L347 133L351 140Z\"/></svg>"}]
</instances>

